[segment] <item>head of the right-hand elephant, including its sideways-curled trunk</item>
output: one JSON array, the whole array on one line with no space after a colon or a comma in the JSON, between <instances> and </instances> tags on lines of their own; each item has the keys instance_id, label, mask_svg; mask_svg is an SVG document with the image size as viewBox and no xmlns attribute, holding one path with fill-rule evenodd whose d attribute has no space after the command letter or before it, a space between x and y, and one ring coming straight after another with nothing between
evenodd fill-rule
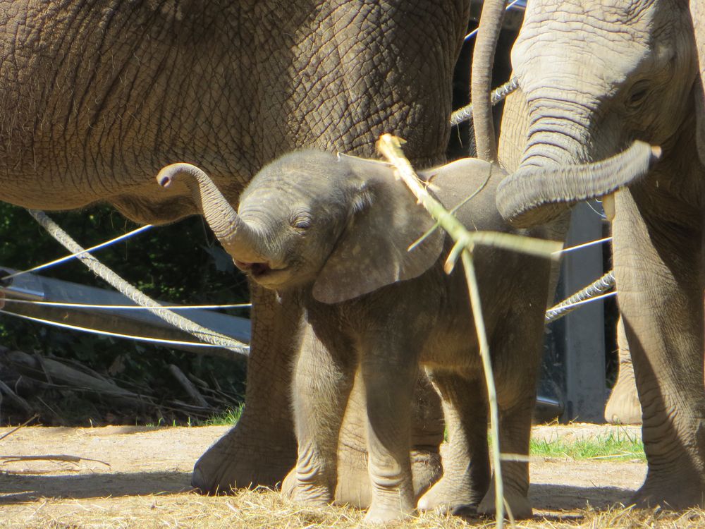
<instances>
[{"instance_id":1,"label":"head of the right-hand elephant, including its sideways-curled trunk","mask_svg":"<svg viewBox=\"0 0 705 529\"><path fill-rule=\"evenodd\" d=\"M519 169L498 190L505 219L549 221L577 200L635 182L673 147L694 80L692 27L678 4L527 5L512 63L529 130ZM654 145L651 157L644 151L613 166L593 163L634 140Z\"/></svg>"}]
</instances>

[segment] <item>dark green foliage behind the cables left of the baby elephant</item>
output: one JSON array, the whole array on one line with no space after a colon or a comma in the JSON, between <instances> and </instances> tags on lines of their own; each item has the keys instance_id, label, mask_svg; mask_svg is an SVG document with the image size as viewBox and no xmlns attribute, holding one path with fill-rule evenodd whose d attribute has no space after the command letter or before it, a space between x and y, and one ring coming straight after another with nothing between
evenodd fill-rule
<instances>
[{"instance_id":1,"label":"dark green foliage behind the cables left of the baby elephant","mask_svg":"<svg viewBox=\"0 0 705 529\"><path fill-rule=\"evenodd\" d=\"M85 248L138 227L106 206L75 212L50 212L49 216ZM0 266L27 269L67 253L24 209L0 203ZM158 300L221 304L243 303L249 297L245 277L214 241L201 217L190 217L170 226L155 226L128 241L99 250L95 255ZM39 274L111 288L78 260L45 269ZM248 316L248 311L242 309L225 312ZM240 399L244 393L245 371L241 361L228 362L137 341L71 332L7 315L0 317L0 345L27 353L37 351L42 355L75 358L98 372L111 372L118 384L125 382L159 389L164 399L183 399L182 390L165 369L167 363L175 363L184 372L217 384L223 391L240 396ZM237 405L237 401L233 402L233 406ZM104 418L98 416L102 408L91 409L88 402L73 402L70 408L59 413L67 422L85 423L89 418L93 423L104 422ZM116 413L110 415L115 417L114 422L160 419L149 411L140 413L144 416L118 419ZM0 420L3 420L1 416ZM174 419L164 420L173 422Z\"/></svg>"}]
</instances>

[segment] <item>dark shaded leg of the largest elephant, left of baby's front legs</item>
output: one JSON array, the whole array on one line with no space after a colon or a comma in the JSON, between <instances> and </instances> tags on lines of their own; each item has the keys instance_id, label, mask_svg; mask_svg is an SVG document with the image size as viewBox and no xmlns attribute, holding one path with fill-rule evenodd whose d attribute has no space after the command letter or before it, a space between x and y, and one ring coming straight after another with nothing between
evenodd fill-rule
<instances>
[{"instance_id":1,"label":"dark shaded leg of the largest elephant, left of baby's front legs","mask_svg":"<svg viewBox=\"0 0 705 529\"><path fill-rule=\"evenodd\" d=\"M280 298L252 282L250 290L247 406L233 430L196 462L191 478L191 485L209 494L253 484L274 487L296 461L290 387L301 309L294 296Z\"/></svg>"}]
</instances>

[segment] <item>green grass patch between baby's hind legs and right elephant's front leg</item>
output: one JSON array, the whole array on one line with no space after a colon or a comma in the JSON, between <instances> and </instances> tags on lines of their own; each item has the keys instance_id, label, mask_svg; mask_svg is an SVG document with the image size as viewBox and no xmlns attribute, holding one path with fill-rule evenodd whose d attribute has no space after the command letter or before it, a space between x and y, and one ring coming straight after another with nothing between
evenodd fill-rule
<instances>
[{"instance_id":1,"label":"green grass patch between baby's hind legs and right elephant's front leg","mask_svg":"<svg viewBox=\"0 0 705 529\"><path fill-rule=\"evenodd\" d=\"M529 445L532 456L569 457L571 459L604 459L646 461L642 440L626 432L609 433L585 439L532 439Z\"/></svg>"}]
</instances>

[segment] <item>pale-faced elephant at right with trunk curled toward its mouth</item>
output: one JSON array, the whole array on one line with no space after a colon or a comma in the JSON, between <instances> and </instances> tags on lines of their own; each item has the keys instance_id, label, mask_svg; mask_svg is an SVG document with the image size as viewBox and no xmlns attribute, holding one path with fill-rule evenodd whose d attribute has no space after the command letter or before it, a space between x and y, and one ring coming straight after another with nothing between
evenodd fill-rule
<instances>
[{"instance_id":1,"label":"pale-faced elephant at right with trunk curled toward its mouth","mask_svg":"<svg viewBox=\"0 0 705 529\"><path fill-rule=\"evenodd\" d=\"M705 502L705 168L696 141L696 39L705 35L702 8L692 8L697 17L676 0L529 2L512 54L527 144L497 196L505 218L529 226L633 181L614 196L613 259L649 463L635 500L676 508ZM644 178L578 165L635 139L661 146Z\"/></svg>"}]
</instances>

